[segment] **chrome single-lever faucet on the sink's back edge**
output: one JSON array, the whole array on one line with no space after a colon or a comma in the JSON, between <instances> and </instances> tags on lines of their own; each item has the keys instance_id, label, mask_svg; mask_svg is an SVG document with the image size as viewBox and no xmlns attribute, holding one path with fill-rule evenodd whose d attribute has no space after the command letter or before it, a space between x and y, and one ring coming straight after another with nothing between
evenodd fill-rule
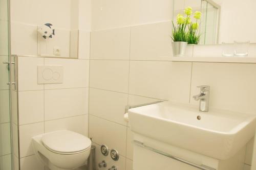
<instances>
[{"instance_id":1,"label":"chrome single-lever faucet on the sink's back edge","mask_svg":"<svg viewBox=\"0 0 256 170\"><path fill-rule=\"evenodd\" d=\"M200 100L199 111L208 112L209 111L209 96L210 96L210 86L198 86L200 88L200 94L194 95L193 98L196 101Z\"/></svg>"}]
</instances>

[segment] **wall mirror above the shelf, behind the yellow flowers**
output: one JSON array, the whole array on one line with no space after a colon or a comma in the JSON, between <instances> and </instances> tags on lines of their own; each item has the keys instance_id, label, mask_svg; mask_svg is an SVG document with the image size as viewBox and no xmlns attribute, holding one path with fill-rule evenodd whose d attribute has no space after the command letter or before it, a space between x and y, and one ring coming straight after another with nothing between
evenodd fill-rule
<instances>
[{"instance_id":1,"label":"wall mirror above the shelf, behind the yellow flowers","mask_svg":"<svg viewBox=\"0 0 256 170\"><path fill-rule=\"evenodd\" d=\"M199 44L256 42L254 7L256 1L174 0L174 21L186 7L201 11Z\"/></svg>"}]
</instances>

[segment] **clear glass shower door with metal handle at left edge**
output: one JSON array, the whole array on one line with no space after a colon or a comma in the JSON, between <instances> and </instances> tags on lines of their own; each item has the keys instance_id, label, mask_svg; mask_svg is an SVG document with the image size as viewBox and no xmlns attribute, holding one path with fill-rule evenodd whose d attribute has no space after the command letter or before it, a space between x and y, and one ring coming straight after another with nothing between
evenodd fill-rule
<instances>
[{"instance_id":1,"label":"clear glass shower door with metal handle at left edge","mask_svg":"<svg viewBox=\"0 0 256 170\"><path fill-rule=\"evenodd\" d=\"M12 169L8 0L0 0L0 170Z\"/></svg>"}]
</instances>

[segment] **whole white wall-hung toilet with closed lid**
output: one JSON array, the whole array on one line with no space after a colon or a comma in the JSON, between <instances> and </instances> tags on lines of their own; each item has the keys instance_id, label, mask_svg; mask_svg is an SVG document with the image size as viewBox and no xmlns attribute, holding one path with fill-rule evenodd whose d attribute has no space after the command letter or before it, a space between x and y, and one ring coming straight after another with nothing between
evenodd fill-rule
<instances>
[{"instance_id":1,"label":"whole white wall-hung toilet with closed lid","mask_svg":"<svg viewBox=\"0 0 256 170\"><path fill-rule=\"evenodd\" d=\"M38 159L51 170L71 170L86 163L91 140L81 134L61 130L32 138Z\"/></svg>"}]
</instances>

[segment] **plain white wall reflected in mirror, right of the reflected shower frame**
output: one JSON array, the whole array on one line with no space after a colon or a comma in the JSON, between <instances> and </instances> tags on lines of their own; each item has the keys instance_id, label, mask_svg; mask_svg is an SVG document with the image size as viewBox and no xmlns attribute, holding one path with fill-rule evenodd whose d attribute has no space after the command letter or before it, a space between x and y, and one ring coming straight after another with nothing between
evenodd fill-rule
<instances>
[{"instance_id":1,"label":"plain white wall reflected in mirror, right of the reflected shower frame","mask_svg":"<svg viewBox=\"0 0 256 170\"><path fill-rule=\"evenodd\" d=\"M223 0L221 3L219 42L248 41L255 43L256 1Z\"/></svg>"}]
</instances>

